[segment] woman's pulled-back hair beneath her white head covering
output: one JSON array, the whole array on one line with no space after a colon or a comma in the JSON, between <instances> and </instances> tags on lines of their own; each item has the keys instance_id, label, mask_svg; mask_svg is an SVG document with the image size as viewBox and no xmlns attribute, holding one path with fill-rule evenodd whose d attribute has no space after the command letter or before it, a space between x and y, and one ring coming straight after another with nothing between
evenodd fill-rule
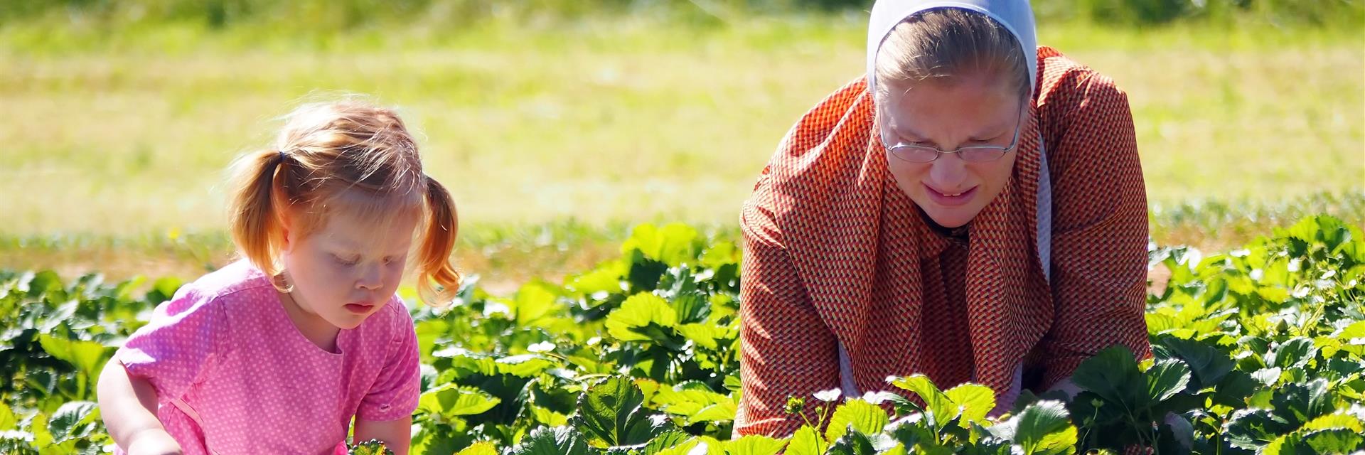
<instances>
[{"instance_id":1,"label":"woman's pulled-back hair beneath her white head covering","mask_svg":"<svg viewBox=\"0 0 1365 455\"><path fill-rule=\"evenodd\" d=\"M1028 97L1028 61L1020 42L990 16L961 10L925 10L906 18L886 36L876 52L876 92L890 96L893 83L951 83L968 75L990 77Z\"/></svg>"}]
</instances>

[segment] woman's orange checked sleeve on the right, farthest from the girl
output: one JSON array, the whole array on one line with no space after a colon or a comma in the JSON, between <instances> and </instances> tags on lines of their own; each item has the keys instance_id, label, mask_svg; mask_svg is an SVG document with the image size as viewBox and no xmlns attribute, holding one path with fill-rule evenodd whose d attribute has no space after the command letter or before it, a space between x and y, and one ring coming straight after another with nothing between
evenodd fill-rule
<instances>
[{"instance_id":1,"label":"woman's orange checked sleeve on the right, farthest from the girl","mask_svg":"<svg viewBox=\"0 0 1365 455\"><path fill-rule=\"evenodd\" d=\"M1122 344L1149 355L1145 309L1147 193L1133 113L1114 81L1087 68L1058 83L1061 139L1052 164L1052 298L1043 339L1043 384L1065 381L1081 362ZM1050 145L1051 146L1051 145Z\"/></svg>"}]
</instances>

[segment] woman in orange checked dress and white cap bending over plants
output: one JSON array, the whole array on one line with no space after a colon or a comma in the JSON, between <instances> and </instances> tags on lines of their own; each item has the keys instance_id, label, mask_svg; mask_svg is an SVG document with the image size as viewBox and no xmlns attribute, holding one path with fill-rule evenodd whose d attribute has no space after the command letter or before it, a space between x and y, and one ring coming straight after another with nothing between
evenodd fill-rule
<instances>
[{"instance_id":1,"label":"woman in orange checked dress and white cap bending over plants","mask_svg":"<svg viewBox=\"0 0 1365 455\"><path fill-rule=\"evenodd\" d=\"M744 205L738 435L788 396L977 383L996 413L1097 351L1151 355L1126 96L1035 45L1026 0L882 0L867 77L803 116Z\"/></svg>"}]
</instances>

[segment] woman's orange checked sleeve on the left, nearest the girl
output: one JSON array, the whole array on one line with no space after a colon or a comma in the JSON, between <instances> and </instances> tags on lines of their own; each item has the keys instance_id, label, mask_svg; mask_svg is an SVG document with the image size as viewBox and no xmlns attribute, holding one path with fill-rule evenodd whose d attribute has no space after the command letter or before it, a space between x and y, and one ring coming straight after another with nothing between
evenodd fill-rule
<instances>
[{"instance_id":1,"label":"woman's orange checked sleeve on the left, nearest the girl","mask_svg":"<svg viewBox=\"0 0 1365 455\"><path fill-rule=\"evenodd\" d=\"M766 178L766 176L764 176ZM804 424L786 415L788 396L838 387L838 344L811 303L766 205L766 182L745 204L740 275L740 381L736 435L789 436Z\"/></svg>"}]
</instances>

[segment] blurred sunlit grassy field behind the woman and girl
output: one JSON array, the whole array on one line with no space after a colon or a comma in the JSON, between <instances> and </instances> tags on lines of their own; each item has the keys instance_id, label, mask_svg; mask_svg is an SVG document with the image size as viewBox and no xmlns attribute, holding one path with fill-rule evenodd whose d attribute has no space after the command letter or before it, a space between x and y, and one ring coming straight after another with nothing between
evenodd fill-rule
<instances>
[{"instance_id":1,"label":"blurred sunlit grassy field behind the woman and girl","mask_svg":"<svg viewBox=\"0 0 1365 455\"><path fill-rule=\"evenodd\" d=\"M399 107L491 291L732 234L778 141L863 70L849 0L0 0L0 268L192 279L224 172L306 101ZM1152 235L1365 223L1365 4L1036 0L1039 42L1129 93Z\"/></svg>"}]
</instances>

